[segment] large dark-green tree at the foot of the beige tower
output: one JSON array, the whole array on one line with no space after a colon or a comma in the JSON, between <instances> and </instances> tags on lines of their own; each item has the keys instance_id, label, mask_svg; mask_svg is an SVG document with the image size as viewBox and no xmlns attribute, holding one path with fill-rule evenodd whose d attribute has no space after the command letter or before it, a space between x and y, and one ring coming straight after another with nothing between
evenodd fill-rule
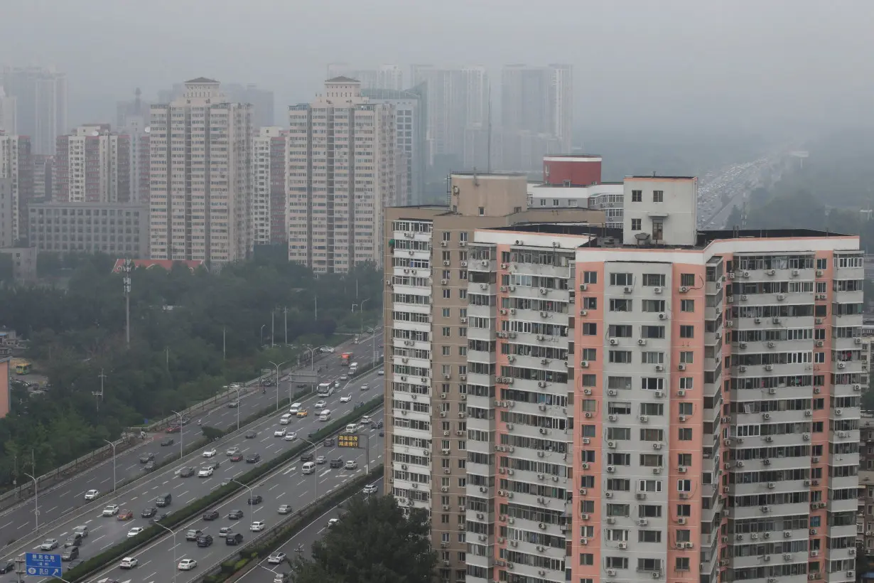
<instances>
[{"instance_id":1,"label":"large dark-green tree at the foot of the beige tower","mask_svg":"<svg viewBox=\"0 0 874 583\"><path fill-rule=\"evenodd\" d=\"M430 583L437 555L427 511L405 516L393 496L355 496L312 559L298 559L296 583Z\"/></svg>"}]
</instances>

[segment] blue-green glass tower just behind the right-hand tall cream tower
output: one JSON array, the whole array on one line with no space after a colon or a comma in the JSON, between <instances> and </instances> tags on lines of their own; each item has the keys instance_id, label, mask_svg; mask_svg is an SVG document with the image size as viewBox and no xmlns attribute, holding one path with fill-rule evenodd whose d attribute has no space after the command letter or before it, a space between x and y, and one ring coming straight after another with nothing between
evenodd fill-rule
<instances>
[{"instance_id":1,"label":"blue-green glass tower just behind the right-hand tall cream tower","mask_svg":"<svg viewBox=\"0 0 874 583\"><path fill-rule=\"evenodd\" d=\"M406 91L362 89L361 94L371 103L387 103L394 108L395 147L403 154L405 167L405 182L396 198L398 205L421 205L427 166L426 87L420 85Z\"/></svg>"}]
</instances>

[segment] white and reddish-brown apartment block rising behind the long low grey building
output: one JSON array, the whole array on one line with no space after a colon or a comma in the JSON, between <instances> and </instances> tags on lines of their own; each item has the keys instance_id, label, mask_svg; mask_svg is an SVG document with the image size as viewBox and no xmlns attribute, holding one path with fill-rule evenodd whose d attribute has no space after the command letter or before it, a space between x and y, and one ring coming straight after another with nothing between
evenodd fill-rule
<instances>
[{"instance_id":1,"label":"white and reddish-brown apartment block rising behind the long low grey building","mask_svg":"<svg viewBox=\"0 0 874 583\"><path fill-rule=\"evenodd\" d=\"M131 136L108 123L73 128L59 135L54 156L52 199L63 203L119 203L130 200Z\"/></svg>"}]
</instances>

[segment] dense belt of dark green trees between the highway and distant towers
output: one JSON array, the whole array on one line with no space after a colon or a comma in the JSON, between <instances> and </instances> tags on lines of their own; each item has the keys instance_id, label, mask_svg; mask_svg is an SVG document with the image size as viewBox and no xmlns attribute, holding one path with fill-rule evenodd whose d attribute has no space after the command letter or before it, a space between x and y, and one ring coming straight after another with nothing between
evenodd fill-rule
<instances>
[{"instance_id":1,"label":"dense belt of dark green trees between the highway and distant towers","mask_svg":"<svg viewBox=\"0 0 874 583\"><path fill-rule=\"evenodd\" d=\"M36 472L45 473L116 439L124 427L252 378L271 360L306 356L306 344L372 325L382 307L382 275L372 267L318 277L270 258L214 273L140 268L131 275L128 348L113 264L104 255L73 256L56 269L68 274L63 286L0 288L0 324L29 340L26 356L51 384L45 395L14 386L12 411L0 420L0 485L16 471L19 481L21 472L31 473L31 453ZM101 372L99 399L93 393L101 390Z\"/></svg>"}]
</instances>

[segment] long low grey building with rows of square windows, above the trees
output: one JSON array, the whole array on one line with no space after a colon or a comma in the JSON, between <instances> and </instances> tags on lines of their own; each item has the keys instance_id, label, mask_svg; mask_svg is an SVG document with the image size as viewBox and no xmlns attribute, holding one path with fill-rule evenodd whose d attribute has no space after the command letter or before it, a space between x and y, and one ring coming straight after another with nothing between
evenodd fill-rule
<instances>
[{"instance_id":1,"label":"long low grey building with rows of square windows, above the trees","mask_svg":"<svg viewBox=\"0 0 874 583\"><path fill-rule=\"evenodd\" d=\"M38 252L149 257L149 205L36 203L28 212L28 240Z\"/></svg>"}]
</instances>

